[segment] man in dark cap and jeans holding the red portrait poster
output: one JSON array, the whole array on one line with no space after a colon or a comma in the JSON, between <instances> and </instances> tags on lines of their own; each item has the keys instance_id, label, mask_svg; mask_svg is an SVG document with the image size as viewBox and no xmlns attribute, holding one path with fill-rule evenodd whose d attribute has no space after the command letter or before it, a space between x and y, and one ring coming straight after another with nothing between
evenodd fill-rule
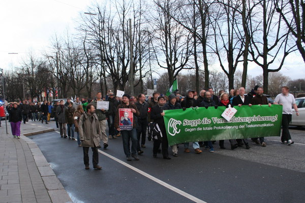
<instances>
[{"instance_id":1,"label":"man in dark cap and jeans holding the red portrait poster","mask_svg":"<svg viewBox=\"0 0 305 203\"><path fill-rule=\"evenodd\" d=\"M137 107L134 104L129 103L130 96L129 94L124 94L121 104L117 106L117 110L115 113L114 118L114 126L115 128L121 132L121 136L123 138L123 147L124 147L124 153L126 155L126 158L128 161L131 161L131 157L133 157L135 160L139 160L139 157L137 156L137 145L138 145L138 139L137 139L137 131L136 131L136 122L133 120L133 127L132 130L121 130L119 128L119 109L131 109L132 113L135 116L139 116L140 113L137 109ZM130 154L130 140L132 142L131 145L131 154Z\"/></svg>"}]
</instances>

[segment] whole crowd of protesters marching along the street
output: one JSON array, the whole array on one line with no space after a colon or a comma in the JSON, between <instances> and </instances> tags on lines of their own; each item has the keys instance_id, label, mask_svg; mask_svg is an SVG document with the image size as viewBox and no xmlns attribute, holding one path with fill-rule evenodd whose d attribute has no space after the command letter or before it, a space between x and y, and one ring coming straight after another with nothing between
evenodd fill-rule
<instances>
[{"instance_id":1,"label":"whole crowd of protesters marching along the street","mask_svg":"<svg viewBox=\"0 0 305 203\"><path fill-rule=\"evenodd\" d=\"M108 109L97 109L98 101L109 101ZM297 106L292 94L289 94L289 88L282 87L282 93L275 99L275 104L283 105L283 133L282 143L286 145L293 144L289 134L288 125L291 121L291 107L293 107L298 115ZM186 109L192 107L213 107L213 106L241 106L241 105L269 105L267 97L263 94L263 88L256 86L249 92L245 93L245 88L231 89L229 93L224 90L215 94L212 88L202 89L199 94L194 90L187 90L185 96L179 93L165 96L158 92L154 92L153 96L145 96L139 94L131 96L124 94L122 97L116 97L112 91L108 91L105 97L101 92L97 92L94 99L80 99L76 97L75 101L67 99L56 101L51 106L47 100L43 103L28 103L22 101L12 103L7 106L9 112L9 122L11 122L12 133L14 137L20 138L20 124L24 124L29 119L32 121L41 121L49 123L50 117L54 117L56 127L59 129L61 138L76 140L79 147L83 147L85 168L89 169L88 148L93 150L93 166L101 169L98 165L98 148L106 149L109 146L108 139L117 139L122 137L123 149L128 161L139 160L139 156L144 153L146 146L146 138L153 140L153 157L157 158L158 153L162 153L164 159L171 159L168 152L168 140L166 136L165 124L163 116L164 110ZM133 121L131 130L121 129L119 122L119 109L131 109L133 113ZM126 122L128 118L126 119ZM106 126L108 126L108 135L106 134ZM148 136L147 133L148 127ZM258 135L259 136L259 135ZM252 142L266 147L267 144L263 137L252 138ZM100 144L102 141L102 146ZM130 145L131 141L131 145ZM209 152L214 152L216 141L193 142L192 148L194 153L200 154L204 148ZM224 140L218 141L220 149L225 149ZM245 146L250 149L248 139L228 140L231 150L237 147ZM181 143L184 146L184 152L190 153L190 144ZM161 148L160 148L161 146ZM170 146L173 156L178 156L178 145Z\"/></svg>"}]
</instances>

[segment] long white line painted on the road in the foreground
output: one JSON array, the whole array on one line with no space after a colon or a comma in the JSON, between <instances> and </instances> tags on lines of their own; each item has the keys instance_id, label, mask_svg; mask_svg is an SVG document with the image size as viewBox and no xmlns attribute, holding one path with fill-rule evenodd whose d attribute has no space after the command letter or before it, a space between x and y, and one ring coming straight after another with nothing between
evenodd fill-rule
<instances>
[{"instance_id":1,"label":"long white line painted on the road in the foreground","mask_svg":"<svg viewBox=\"0 0 305 203\"><path fill-rule=\"evenodd\" d=\"M162 185L162 186L164 186L164 187L166 187L166 188L168 188L168 189L170 189L170 190L172 190L172 191L174 191L174 192L176 192L176 193L178 193L178 194L180 194L182 196L185 196L186 198L191 199L192 201L200 202L200 203L206 203L205 201L203 201L201 199L198 199L197 197L195 197L195 196L193 196L193 195L191 195L189 193L186 193L185 191L182 191L182 190L180 190L180 189L178 189L178 188L176 188L174 186L171 186L168 183L165 183L164 181L161 181L158 178L155 178L154 176L151 176L151 175L149 175L149 174L139 170L138 168L136 168L136 167L134 167L134 166L124 162L124 161L121 161L118 158L115 158L114 156L111 156L110 154L107 154L106 152L103 152L101 150L98 150L98 151L101 154L104 154L105 156L108 156L109 158L115 160L116 162L118 162L118 163L120 163L122 165L125 165L126 167L129 167L131 170L133 170L133 171L135 171L135 172L145 176L146 178L149 178L150 180L155 181L156 183L159 183L160 185Z\"/></svg>"}]
</instances>

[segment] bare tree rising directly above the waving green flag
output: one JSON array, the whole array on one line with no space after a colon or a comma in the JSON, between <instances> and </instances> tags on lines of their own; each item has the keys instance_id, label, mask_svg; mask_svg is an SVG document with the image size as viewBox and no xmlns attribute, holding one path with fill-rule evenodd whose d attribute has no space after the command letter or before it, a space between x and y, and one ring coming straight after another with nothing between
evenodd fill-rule
<instances>
[{"instance_id":1,"label":"bare tree rising directly above the waving green flag","mask_svg":"<svg viewBox=\"0 0 305 203\"><path fill-rule=\"evenodd\" d=\"M191 33L174 21L172 16L177 15L175 1L155 0L157 16L155 22L154 50L158 65L165 69L171 84L183 69L188 67L191 56ZM157 53L160 54L159 57ZM163 60L164 59L164 60Z\"/></svg>"}]
</instances>

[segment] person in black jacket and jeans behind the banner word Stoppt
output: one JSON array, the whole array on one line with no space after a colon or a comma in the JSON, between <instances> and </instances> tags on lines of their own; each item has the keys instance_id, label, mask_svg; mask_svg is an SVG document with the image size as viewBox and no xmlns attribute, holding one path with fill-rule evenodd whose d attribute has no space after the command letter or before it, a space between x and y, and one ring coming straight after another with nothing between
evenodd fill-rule
<instances>
[{"instance_id":1,"label":"person in black jacket and jeans behind the banner word Stoppt","mask_svg":"<svg viewBox=\"0 0 305 203\"><path fill-rule=\"evenodd\" d=\"M187 96L186 96L185 100L183 100L181 102L181 107L183 109L197 106L197 101L196 101L196 99L194 99L194 92L195 91L191 90L191 89L187 90ZM185 152L190 153L189 143L184 143L184 147L185 147ZM196 154L200 154L202 152L199 149L199 143L198 142L193 142L193 148L194 148Z\"/></svg>"}]
</instances>

